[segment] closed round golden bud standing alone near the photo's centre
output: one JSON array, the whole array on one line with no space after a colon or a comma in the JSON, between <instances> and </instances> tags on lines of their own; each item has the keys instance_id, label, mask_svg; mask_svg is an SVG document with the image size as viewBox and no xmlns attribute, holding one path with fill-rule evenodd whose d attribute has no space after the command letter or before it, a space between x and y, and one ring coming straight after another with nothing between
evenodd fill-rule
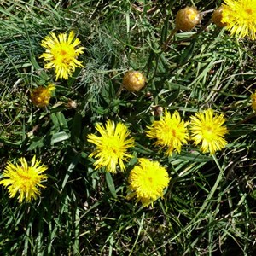
<instances>
[{"instance_id":1,"label":"closed round golden bud standing alone near the photo's centre","mask_svg":"<svg viewBox=\"0 0 256 256\"><path fill-rule=\"evenodd\" d=\"M123 86L126 90L139 91L146 84L146 78L139 71L128 71L123 78Z\"/></svg>"}]
</instances>

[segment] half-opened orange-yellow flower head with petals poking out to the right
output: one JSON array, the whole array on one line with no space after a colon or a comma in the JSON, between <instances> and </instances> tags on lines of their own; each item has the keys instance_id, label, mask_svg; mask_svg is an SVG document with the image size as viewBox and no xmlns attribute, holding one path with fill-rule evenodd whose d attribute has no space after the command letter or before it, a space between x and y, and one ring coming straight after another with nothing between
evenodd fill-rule
<instances>
[{"instance_id":1,"label":"half-opened orange-yellow flower head with petals poking out to the right","mask_svg":"<svg viewBox=\"0 0 256 256\"><path fill-rule=\"evenodd\" d=\"M39 86L32 90L30 98L32 103L39 107L44 108L49 104L52 91L55 90L55 84L49 84L47 87Z\"/></svg>"}]
</instances>

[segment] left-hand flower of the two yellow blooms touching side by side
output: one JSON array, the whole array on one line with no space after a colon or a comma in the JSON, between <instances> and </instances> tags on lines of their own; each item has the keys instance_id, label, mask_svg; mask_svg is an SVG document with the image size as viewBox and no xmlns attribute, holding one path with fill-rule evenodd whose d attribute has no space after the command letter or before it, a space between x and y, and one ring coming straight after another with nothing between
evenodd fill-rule
<instances>
[{"instance_id":1,"label":"left-hand flower of the two yellow blooms touching side by side","mask_svg":"<svg viewBox=\"0 0 256 256\"><path fill-rule=\"evenodd\" d=\"M166 111L163 118L147 126L149 130L146 133L148 137L156 139L155 145L161 148L168 147L166 154L172 155L173 151L180 153L182 144L187 143L189 138L187 125L189 123L185 123L177 111L172 115Z\"/></svg>"}]
</instances>

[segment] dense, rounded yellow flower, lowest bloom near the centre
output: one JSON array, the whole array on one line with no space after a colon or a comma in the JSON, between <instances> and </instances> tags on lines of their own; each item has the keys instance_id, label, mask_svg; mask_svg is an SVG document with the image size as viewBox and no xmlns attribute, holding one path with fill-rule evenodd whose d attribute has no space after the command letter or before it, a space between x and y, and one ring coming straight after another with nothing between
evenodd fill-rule
<instances>
[{"instance_id":1,"label":"dense, rounded yellow flower, lowest bloom near the centre","mask_svg":"<svg viewBox=\"0 0 256 256\"><path fill-rule=\"evenodd\" d=\"M143 207L148 207L149 204L153 205L154 201L163 197L163 191L171 178L158 161L142 158L139 163L140 165L135 166L130 172L127 199L136 196L137 202L141 201Z\"/></svg>"}]
</instances>

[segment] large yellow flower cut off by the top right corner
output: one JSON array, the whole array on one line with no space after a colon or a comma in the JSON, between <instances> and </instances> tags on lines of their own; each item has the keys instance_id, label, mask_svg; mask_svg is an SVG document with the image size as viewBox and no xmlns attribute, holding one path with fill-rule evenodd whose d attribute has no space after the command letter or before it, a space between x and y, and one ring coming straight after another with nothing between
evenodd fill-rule
<instances>
[{"instance_id":1,"label":"large yellow flower cut off by the top right corner","mask_svg":"<svg viewBox=\"0 0 256 256\"><path fill-rule=\"evenodd\" d=\"M256 1L224 0L222 22L227 23L231 35L256 39Z\"/></svg>"}]
</instances>

